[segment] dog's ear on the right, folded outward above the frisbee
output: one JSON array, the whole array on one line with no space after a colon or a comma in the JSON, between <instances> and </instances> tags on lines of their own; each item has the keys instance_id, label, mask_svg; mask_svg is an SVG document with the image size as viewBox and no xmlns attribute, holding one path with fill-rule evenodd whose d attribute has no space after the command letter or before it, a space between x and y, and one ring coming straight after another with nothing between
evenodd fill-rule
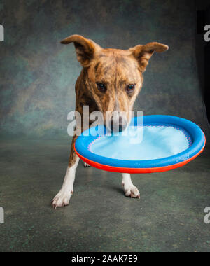
<instances>
[{"instance_id":1,"label":"dog's ear on the right, folded outward above the frisbee","mask_svg":"<svg viewBox=\"0 0 210 266\"><path fill-rule=\"evenodd\" d=\"M146 70L149 59L151 59L154 52L165 52L169 49L169 46L162 43L147 43L145 45L137 45L130 48L129 51L137 59L142 72Z\"/></svg>"}]
</instances>

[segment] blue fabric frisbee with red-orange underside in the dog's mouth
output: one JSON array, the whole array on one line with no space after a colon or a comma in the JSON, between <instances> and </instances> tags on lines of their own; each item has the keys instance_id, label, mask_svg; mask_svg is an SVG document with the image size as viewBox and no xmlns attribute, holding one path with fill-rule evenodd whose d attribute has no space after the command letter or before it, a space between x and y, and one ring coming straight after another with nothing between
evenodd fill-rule
<instances>
[{"instance_id":1,"label":"blue fabric frisbee with red-orange underside in the dog's mouth","mask_svg":"<svg viewBox=\"0 0 210 266\"><path fill-rule=\"evenodd\" d=\"M132 118L129 134L107 134L104 125L90 127L76 139L76 154L98 169L137 174L182 167L204 150L204 132L190 120L156 115L138 123L139 118Z\"/></svg>"}]
</instances>

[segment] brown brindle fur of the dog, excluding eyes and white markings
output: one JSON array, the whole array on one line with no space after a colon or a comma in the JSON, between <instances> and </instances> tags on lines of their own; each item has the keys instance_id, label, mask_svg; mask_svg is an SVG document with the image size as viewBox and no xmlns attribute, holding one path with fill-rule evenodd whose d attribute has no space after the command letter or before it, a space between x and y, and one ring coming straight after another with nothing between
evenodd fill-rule
<instances>
[{"instance_id":1,"label":"brown brindle fur of the dog, excluding eyes and white markings","mask_svg":"<svg viewBox=\"0 0 210 266\"><path fill-rule=\"evenodd\" d=\"M61 43L74 43L78 61L83 70L76 81L76 111L83 118L83 106L90 106L92 111L101 111L106 121L106 111L132 111L135 99L143 85L143 75L148 60L154 52L164 52L168 46L161 43L137 45L128 50L104 49L83 36L73 35L65 38ZM106 92L100 92L97 83L104 83ZM127 85L134 84L134 92L127 93ZM110 118L109 118L110 119ZM83 132L83 125L81 128ZM73 149L76 135L71 143L69 167L76 162Z\"/></svg>"}]
</instances>

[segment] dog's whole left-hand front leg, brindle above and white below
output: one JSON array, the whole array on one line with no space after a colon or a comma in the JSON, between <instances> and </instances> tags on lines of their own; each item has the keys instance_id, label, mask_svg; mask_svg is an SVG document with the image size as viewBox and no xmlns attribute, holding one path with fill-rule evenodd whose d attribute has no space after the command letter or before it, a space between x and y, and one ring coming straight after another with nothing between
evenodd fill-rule
<instances>
[{"instance_id":1,"label":"dog's whole left-hand front leg, brindle above and white below","mask_svg":"<svg viewBox=\"0 0 210 266\"><path fill-rule=\"evenodd\" d=\"M76 173L76 167L78 166L79 158L76 155L76 152L74 151L74 144L76 141L76 135L73 136L72 142L71 142L71 153L69 157L69 165L66 170L66 175L64 177L64 183L62 185L61 190L59 190L59 193L54 197L52 200L52 207L64 207L69 204L69 200L71 195L73 194L73 182L75 179L75 173Z\"/></svg>"}]
</instances>

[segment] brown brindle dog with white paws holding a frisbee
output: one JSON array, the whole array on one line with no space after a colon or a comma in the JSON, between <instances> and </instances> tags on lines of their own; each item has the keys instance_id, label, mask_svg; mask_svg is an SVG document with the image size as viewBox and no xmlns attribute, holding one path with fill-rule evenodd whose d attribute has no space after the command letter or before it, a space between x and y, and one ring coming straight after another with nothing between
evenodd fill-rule
<instances>
[{"instance_id":1,"label":"brown brindle dog with white paws holding a frisbee","mask_svg":"<svg viewBox=\"0 0 210 266\"><path fill-rule=\"evenodd\" d=\"M118 130L122 131L130 124L130 111L141 91L143 73L153 53L165 52L169 49L167 45L157 42L137 45L128 50L104 49L80 35L69 36L61 43L74 44L78 62L83 66L75 86L76 111L82 118L83 106L89 106L90 113L102 112L106 125L112 131L116 130L113 125L117 125ZM110 116L106 116L106 111L111 113ZM119 116L116 118L113 113L119 113ZM80 130L83 132L83 125ZM76 138L75 134L71 142L69 165L64 183L52 200L52 207L55 209L68 205L73 194L73 182L79 161L74 151ZM88 165L85 164L85 166ZM122 185L125 196L140 198L139 190L133 185L130 174L123 174Z\"/></svg>"}]
</instances>

